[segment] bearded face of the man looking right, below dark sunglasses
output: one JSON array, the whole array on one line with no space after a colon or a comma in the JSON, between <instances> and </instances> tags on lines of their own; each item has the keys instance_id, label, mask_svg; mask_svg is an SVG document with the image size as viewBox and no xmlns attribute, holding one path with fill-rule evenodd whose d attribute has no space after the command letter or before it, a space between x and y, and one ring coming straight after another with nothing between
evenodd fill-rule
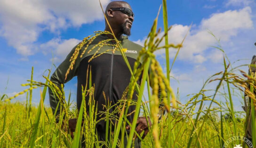
<instances>
[{"instance_id":1,"label":"bearded face of the man looking right, below dark sunglasses","mask_svg":"<svg viewBox=\"0 0 256 148\"><path fill-rule=\"evenodd\" d=\"M126 7L132 10L132 8L126 3L120 4L120 7ZM131 34L130 30L132 27L132 22L134 20L133 16L128 16L127 14L116 10L113 11L113 15L115 17L116 23L120 27L121 33L129 36Z\"/></svg>"}]
</instances>

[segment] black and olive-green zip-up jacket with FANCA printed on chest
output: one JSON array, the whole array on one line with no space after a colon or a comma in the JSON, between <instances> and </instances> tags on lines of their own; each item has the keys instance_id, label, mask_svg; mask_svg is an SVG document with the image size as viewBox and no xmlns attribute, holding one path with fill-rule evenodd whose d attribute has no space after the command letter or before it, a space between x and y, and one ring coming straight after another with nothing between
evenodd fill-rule
<instances>
[{"instance_id":1,"label":"black and olive-green zip-up jacket with FANCA printed on chest","mask_svg":"<svg viewBox=\"0 0 256 148\"><path fill-rule=\"evenodd\" d=\"M106 52L99 57L92 59L90 62L88 60L93 56L98 48L95 48L91 52L88 51L98 42L108 39L106 35L100 35L96 37L96 39L88 46L85 54L76 60L73 70L67 76L67 79L64 81L66 71L70 66L69 59L71 58L73 52L75 51L76 46L72 49L72 51L68 54L66 59L57 67L56 71L51 76L51 81L56 84L60 88L61 84L71 80L74 76L77 76L77 107L80 109L80 105L82 102L82 88L81 86L85 87L87 78L87 69L88 65L91 67L91 81L92 84L95 85L94 91L94 99L97 102L97 112L104 111L103 104L105 104L105 99L103 96L103 91L105 93L107 101L111 102L111 104L116 104L118 100L121 98L124 90L127 88L129 81L130 81L130 71L121 56L120 51L112 51ZM110 42L111 43L111 42ZM125 54L128 58L129 64L133 69L134 63L139 55L142 46L135 44L128 40L128 37L123 36L121 39L121 44L124 49L127 49ZM84 50L85 46L82 48L81 52ZM112 49L112 46L104 45L97 54L105 52L106 50ZM137 82L140 84L140 80ZM88 89L88 88L87 88ZM56 106L59 102L57 98L53 95L51 89L49 89L49 99L50 105L53 112L56 110ZM86 102L88 103L89 97L86 97ZM133 99L137 99L136 93L133 95ZM88 105L87 105L88 106ZM129 108L128 113L135 110L135 105L132 105ZM58 115L60 113L60 108L57 108ZM98 117L99 118L99 117ZM131 122L133 119L133 115L128 116L128 120ZM97 125L96 129L98 133L105 132L105 121L101 120Z\"/></svg>"}]
</instances>

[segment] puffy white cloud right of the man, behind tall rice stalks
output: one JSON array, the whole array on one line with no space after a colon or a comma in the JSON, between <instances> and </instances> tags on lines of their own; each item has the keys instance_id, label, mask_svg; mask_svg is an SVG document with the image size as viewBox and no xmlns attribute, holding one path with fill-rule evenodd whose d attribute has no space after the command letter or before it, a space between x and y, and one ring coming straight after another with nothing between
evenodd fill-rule
<instances>
[{"instance_id":1,"label":"puffy white cloud right of the man, behind tall rice stalks","mask_svg":"<svg viewBox=\"0 0 256 148\"><path fill-rule=\"evenodd\" d=\"M168 33L169 43L181 43L188 29L189 26L173 25L173 28ZM221 38L222 42L228 42L230 38L235 37L239 31L248 29L253 29L250 7L213 14L210 18L203 19L197 29L190 30L184 41L184 46L180 50L178 59L185 61L190 60L194 63L202 63L207 59L212 59L206 50L210 45L216 44L216 39L209 31L211 31L217 39ZM156 52L156 54L162 53L164 53L164 50ZM173 58L175 54L176 50L170 49L170 57ZM215 53L215 56L217 56L217 53ZM216 59L212 60L214 62L217 61Z\"/></svg>"}]
</instances>

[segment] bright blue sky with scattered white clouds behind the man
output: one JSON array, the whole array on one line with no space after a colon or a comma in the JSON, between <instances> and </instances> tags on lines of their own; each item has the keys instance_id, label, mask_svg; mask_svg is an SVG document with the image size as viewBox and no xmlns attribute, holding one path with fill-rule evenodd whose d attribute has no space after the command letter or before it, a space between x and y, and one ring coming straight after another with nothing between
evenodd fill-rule
<instances>
[{"instance_id":1,"label":"bright blue sky with scattered white clouds behind the man","mask_svg":"<svg viewBox=\"0 0 256 148\"><path fill-rule=\"evenodd\" d=\"M104 7L110 0L101 0ZM143 44L151 29L161 0L127 0L134 13L129 39ZM210 46L217 38L233 63L249 64L256 54L255 0L167 0L170 43L180 43L192 23L171 76L171 86L180 98L197 93L210 75L223 70L223 53ZM161 12L162 13L162 12ZM162 15L159 27L163 28ZM104 17L98 0L1 0L0 1L0 94L15 95L25 89L20 84L30 79L45 81L42 75L53 63L58 66L72 47L93 31L104 30ZM170 49L170 61L176 53ZM155 52L164 67L165 53ZM164 69L164 68L163 68ZM247 71L247 67L241 67ZM53 67L53 71L55 68ZM46 74L45 74L46 75ZM5 89L7 87L7 89ZM209 88L214 88L210 85ZM76 78L65 85L76 97ZM20 96L16 100L24 100ZM33 102L39 101L39 89ZM235 100L240 110L240 100ZM48 104L48 99L46 99Z\"/></svg>"}]
</instances>

